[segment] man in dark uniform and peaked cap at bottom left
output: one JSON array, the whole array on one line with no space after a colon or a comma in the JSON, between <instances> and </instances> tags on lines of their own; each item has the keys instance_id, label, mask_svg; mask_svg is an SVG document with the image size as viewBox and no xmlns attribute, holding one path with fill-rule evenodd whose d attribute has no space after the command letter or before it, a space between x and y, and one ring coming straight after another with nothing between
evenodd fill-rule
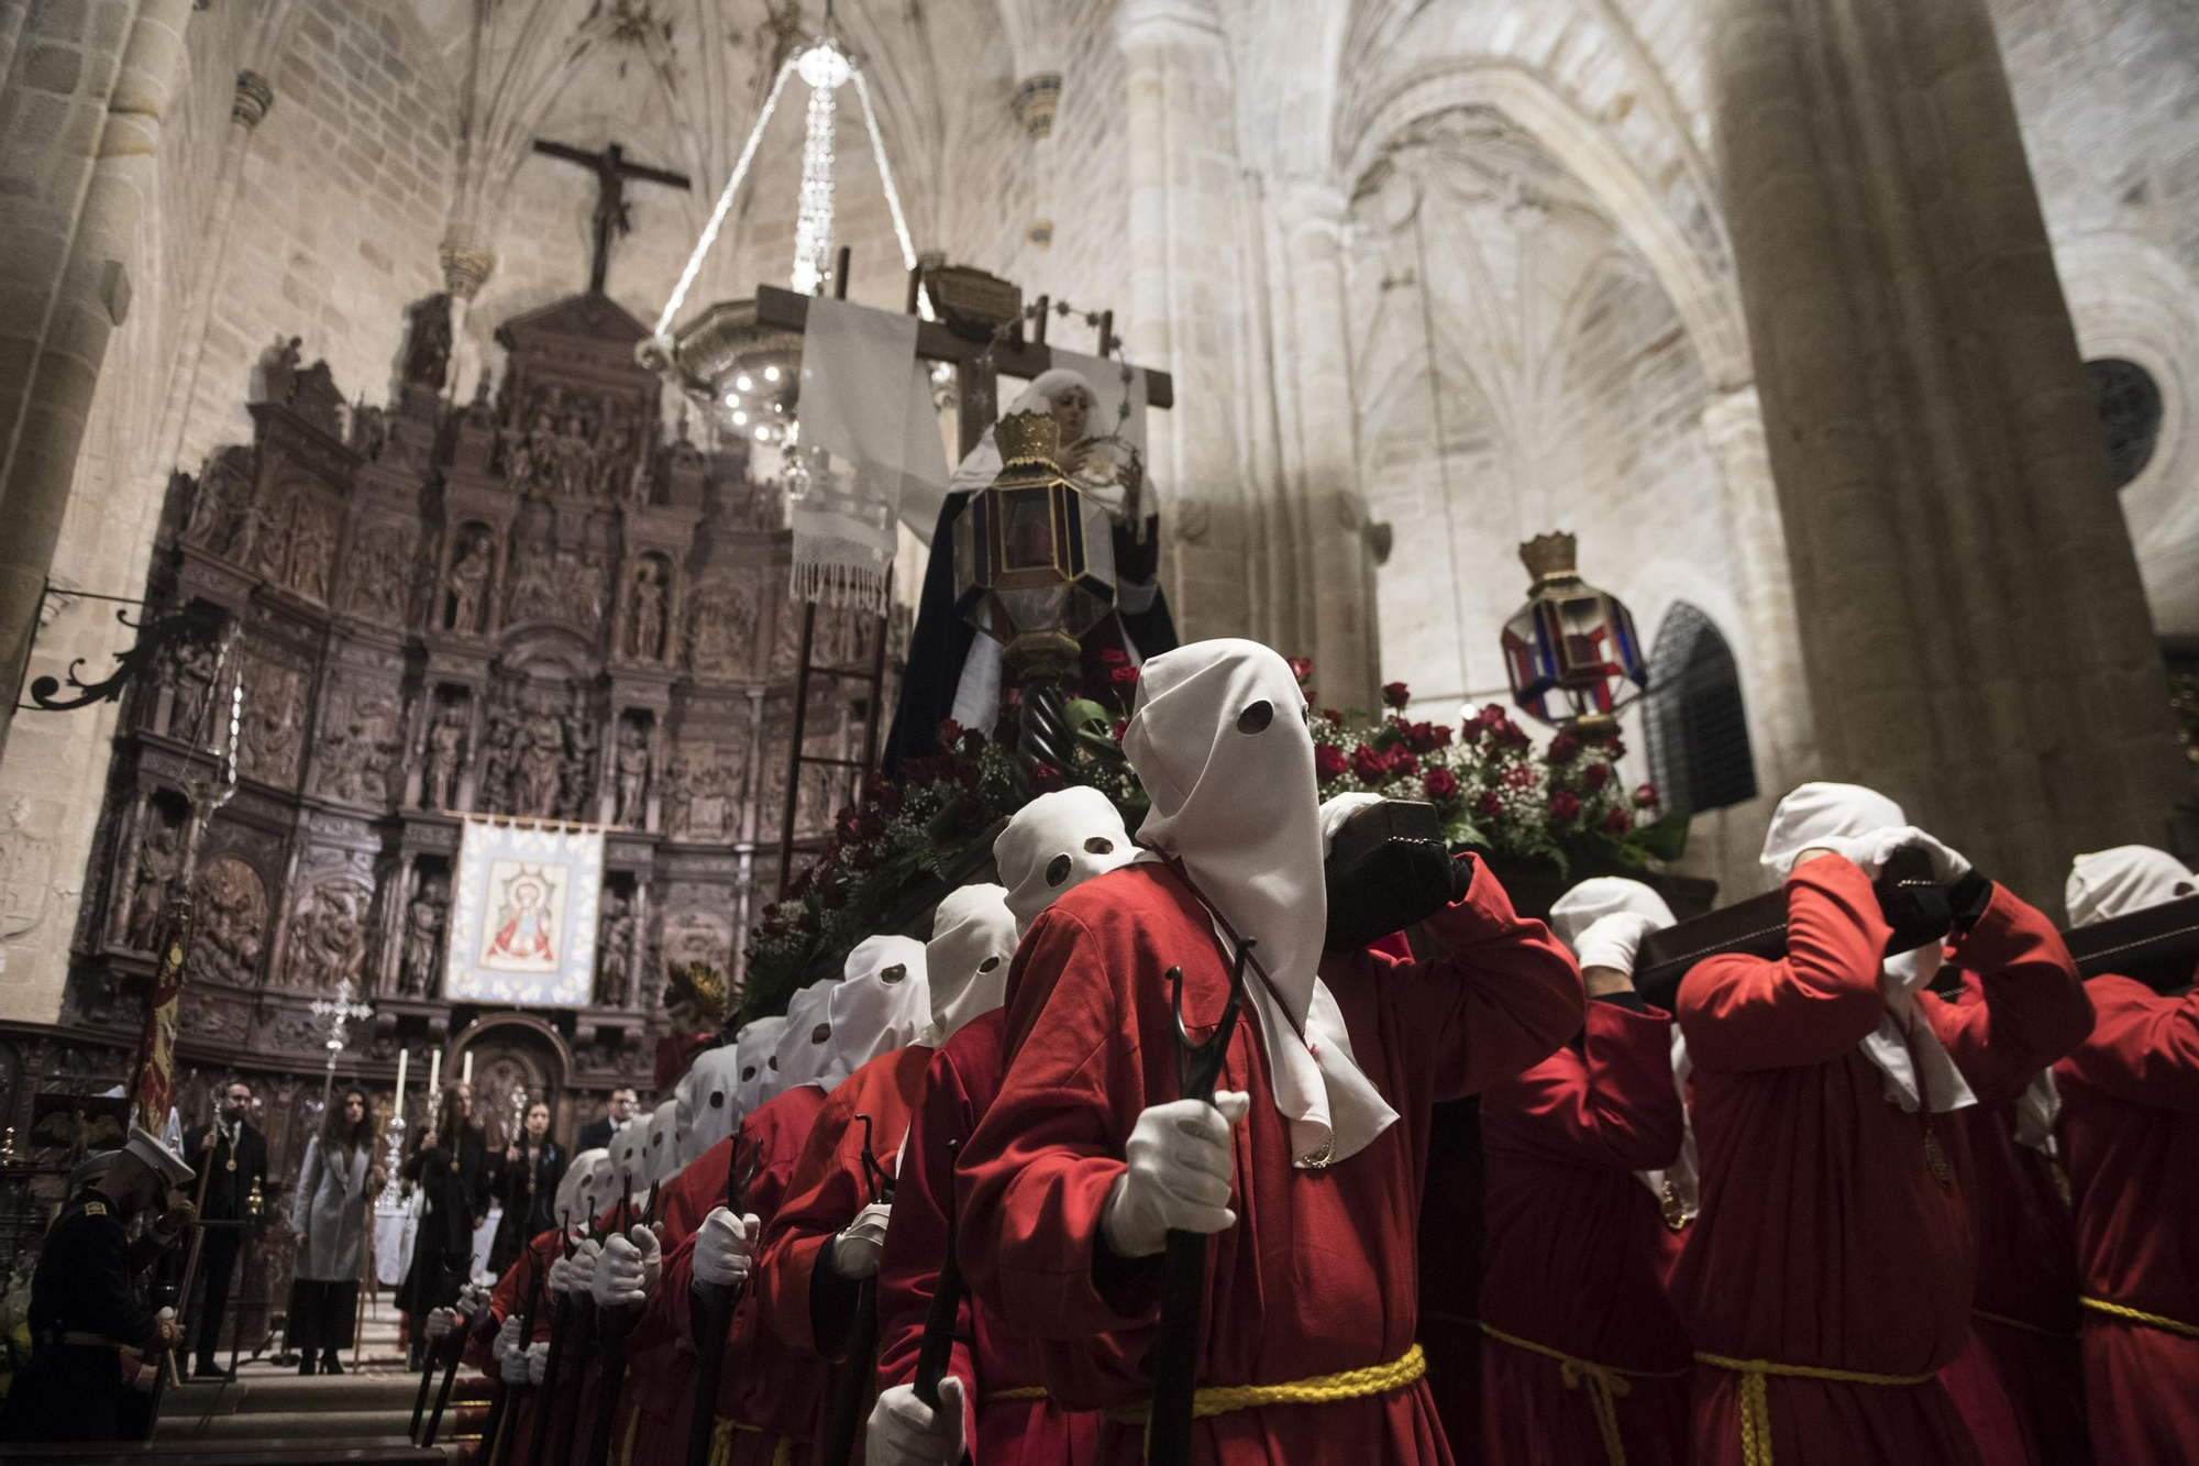
<instances>
[{"instance_id":1,"label":"man in dark uniform and peaked cap at bottom left","mask_svg":"<svg viewBox=\"0 0 2199 1466\"><path fill-rule=\"evenodd\" d=\"M191 1180L183 1158L130 1127L130 1145L97 1156L70 1178L31 1274L31 1363L0 1411L0 1442L145 1440L161 1349L180 1336L156 1314L139 1274L147 1252L183 1235L191 1206L172 1197ZM130 1219L176 1206L130 1244Z\"/></svg>"}]
</instances>

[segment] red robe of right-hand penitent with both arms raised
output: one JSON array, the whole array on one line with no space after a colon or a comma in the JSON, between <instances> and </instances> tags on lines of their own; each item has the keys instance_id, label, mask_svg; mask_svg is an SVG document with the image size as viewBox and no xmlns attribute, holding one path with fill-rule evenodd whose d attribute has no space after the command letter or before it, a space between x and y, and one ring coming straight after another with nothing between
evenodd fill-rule
<instances>
[{"instance_id":1,"label":"red robe of right-hand penitent with both arms raised","mask_svg":"<svg viewBox=\"0 0 2199 1466\"><path fill-rule=\"evenodd\" d=\"M1926 1160L1926 1125L1951 1156L1959 1131L1946 1114L1887 1101L1858 1048L1885 1013L1889 927L1871 883L1821 856L1788 876L1786 896L1786 958L1711 958L1680 984L1704 1193L1673 1299L1704 1354L1926 1376L1770 1376L1779 1466L1975 1466L1970 1433L1931 1378L1964 1347L1977 1272L1964 1197ZM1951 958L1983 973L1986 1002L1915 1002L1973 1083L2032 1074L2091 1026L2060 936L2001 887ZM1739 1374L1698 1365L1691 1455L1744 1459Z\"/></svg>"}]
</instances>

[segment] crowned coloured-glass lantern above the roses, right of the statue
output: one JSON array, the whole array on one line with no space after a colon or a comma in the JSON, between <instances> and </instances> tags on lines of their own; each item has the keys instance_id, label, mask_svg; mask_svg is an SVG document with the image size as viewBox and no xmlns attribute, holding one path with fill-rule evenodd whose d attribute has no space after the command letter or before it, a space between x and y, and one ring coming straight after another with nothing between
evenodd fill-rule
<instances>
[{"instance_id":1,"label":"crowned coloured-glass lantern above the roses, right of the statue","mask_svg":"<svg viewBox=\"0 0 2199 1466\"><path fill-rule=\"evenodd\" d=\"M1625 603L1581 579L1574 537L1559 530L1520 546L1535 577L1504 623L1504 674L1531 718L1581 737L1618 729L1618 709L1649 687L1649 667Z\"/></svg>"}]
</instances>

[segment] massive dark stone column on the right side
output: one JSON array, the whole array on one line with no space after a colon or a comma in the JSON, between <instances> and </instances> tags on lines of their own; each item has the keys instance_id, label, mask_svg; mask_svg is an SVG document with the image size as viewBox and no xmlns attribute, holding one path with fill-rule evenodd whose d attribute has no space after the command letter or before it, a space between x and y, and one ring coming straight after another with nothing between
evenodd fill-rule
<instances>
[{"instance_id":1,"label":"massive dark stone column on the right side","mask_svg":"<svg viewBox=\"0 0 2199 1466\"><path fill-rule=\"evenodd\" d=\"M1706 20L1823 770L2052 905L2181 770L1986 4Z\"/></svg>"}]
</instances>

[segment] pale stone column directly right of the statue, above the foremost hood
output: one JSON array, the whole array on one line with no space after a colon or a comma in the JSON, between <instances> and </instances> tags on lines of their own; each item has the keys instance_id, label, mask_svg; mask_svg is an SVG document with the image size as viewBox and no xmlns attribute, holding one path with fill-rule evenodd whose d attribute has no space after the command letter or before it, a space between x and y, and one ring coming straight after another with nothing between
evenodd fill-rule
<instances>
[{"instance_id":1,"label":"pale stone column directly right of the statue, above the foremost hood","mask_svg":"<svg viewBox=\"0 0 2199 1466\"><path fill-rule=\"evenodd\" d=\"M1152 418L1152 478L1165 504L1163 579L1185 641L1247 625L1249 506L1234 420L1240 381L1236 119L1229 48L1209 0L1124 0L1130 310L1135 361L1174 376L1176 407Z\"/></svg>"}]
</instances>

